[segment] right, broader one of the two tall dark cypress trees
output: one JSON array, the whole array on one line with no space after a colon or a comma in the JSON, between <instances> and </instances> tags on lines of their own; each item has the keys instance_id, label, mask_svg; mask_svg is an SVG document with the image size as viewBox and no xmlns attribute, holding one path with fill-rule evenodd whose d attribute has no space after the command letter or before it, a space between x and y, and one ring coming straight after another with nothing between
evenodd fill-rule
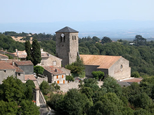
<instances>
[{"instance_id":1,"label":"right, broader one of the two tall dark cypress trees","mask_svg":"<svg viewBox=\"0 0 154 115\"><path fill-rule=\"evenodd\" d=\"M40 51L40 45L37 40L33 41L32 44L32 57L33 57L33 64L37 65L41 62L41 51Z\"/></svg>"}]
</instances>

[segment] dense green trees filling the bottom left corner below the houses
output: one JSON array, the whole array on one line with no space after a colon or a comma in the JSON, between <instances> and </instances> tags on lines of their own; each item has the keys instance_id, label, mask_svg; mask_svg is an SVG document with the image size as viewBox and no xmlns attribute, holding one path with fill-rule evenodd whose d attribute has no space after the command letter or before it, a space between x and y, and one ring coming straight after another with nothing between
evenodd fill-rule
<instances>
[{"instance_id":1,"label":"dense green trees filling the bottom left corner below the houses","mask_svg":"<svg viewBox=\"0 0 154 115\"><path fill-rule=\"evenodd\" d=\"M25 84L13 76L8 77L0 85L1 115L39 115L39 108L32 102L33 81Z\"/></svg>"}]
</instances>

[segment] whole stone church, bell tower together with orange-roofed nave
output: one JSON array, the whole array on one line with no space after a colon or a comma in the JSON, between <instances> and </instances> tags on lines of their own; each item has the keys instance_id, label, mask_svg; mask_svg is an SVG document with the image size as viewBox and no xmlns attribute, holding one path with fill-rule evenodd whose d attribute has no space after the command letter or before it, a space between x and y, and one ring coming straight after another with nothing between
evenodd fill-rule
<instances>
[{"instance_id":1,"label":"whole stone church, bell tower together with orange-roofed nave","mask_svg":"<svg viewBox=\"0 0 154 115\"><path fill-rule=\"evenodd\" d=\"M78 31L64 27L56 32L56 56L62 59L62 66L71 64L79 56L85 65L86 77L93 71L102 71L116 80L131 78L129 61L122 56L79 55Z\"/></svg>"}]
</instances>

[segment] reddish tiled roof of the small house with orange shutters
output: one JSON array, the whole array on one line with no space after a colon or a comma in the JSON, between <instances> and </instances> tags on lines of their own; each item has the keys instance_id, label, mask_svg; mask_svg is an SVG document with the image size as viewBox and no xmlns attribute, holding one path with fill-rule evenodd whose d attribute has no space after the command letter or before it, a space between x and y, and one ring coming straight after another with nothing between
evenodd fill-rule
<instances>
[{"instance_id":1,"label":"reddish tiled roof of the small house with orange shutters","mask_svg":"<svg viewBox=\"0 0 154 115\"><path fill-rule=\"evenodd\" d=\"M43 66L43 68L52 73L53 75L65 74L60 67L53 67L53 66Z\"/></svg>"}]
</instances>

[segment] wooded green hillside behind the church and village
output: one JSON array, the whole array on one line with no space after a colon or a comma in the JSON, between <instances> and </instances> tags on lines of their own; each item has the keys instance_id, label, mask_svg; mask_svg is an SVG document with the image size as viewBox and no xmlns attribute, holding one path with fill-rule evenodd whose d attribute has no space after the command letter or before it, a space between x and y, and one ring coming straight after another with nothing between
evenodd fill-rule
<instances>
[{"instance_id":1,"label":"wooded green hillside behind the church and village","mask_svg":"<svg viewBox=\"0 0 154 115\"><path fill-rule=\"evenodd\" d=\"M41 38L39 43L45 51L55 55L56 42L54 40L55 37L53 40L43 40ZM7 49L9 52L15 52L15 49L24 50L24 43L16 42L10 36L0 34L0 48ZM79 39L80 54L123 56L130 61L132 72L138 71L141 76L154 75L153 51L153 41L147 42L146 45L131 46L128 41L123 40L102 44L97 37L84 37Z\"/></svg>"}]
</instances>

